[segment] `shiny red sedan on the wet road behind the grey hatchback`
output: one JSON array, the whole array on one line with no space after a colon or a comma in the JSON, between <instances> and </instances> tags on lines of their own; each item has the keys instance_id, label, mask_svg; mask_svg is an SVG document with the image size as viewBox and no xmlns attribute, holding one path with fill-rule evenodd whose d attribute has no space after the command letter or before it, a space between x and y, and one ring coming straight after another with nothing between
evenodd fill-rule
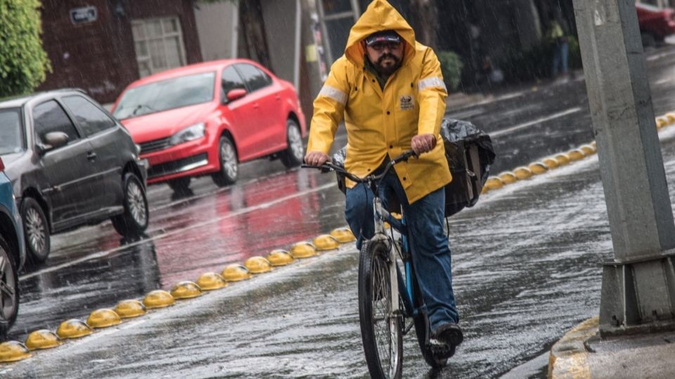
<instances>
[{"instance_id":1,"label":"shiny red sedan on the wet road behind the grey hatchback","mask_svg":"<svg viewBox=\"0 0 675 379\"><path fill-rule=\"evenodd\" d=\"M186 192L193 176L237 180L238 164L304 158L307 135L295 88L256 62L217 60L160 72L124 89L113 114L148 159L148 184Z\"/></svg>"}]
</instances>

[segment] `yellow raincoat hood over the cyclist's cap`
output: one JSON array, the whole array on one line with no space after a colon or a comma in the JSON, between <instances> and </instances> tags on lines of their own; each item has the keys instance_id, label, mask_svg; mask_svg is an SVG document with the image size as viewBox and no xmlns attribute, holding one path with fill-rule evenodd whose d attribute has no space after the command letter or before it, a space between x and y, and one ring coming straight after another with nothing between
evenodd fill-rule
<instances>
[{"instance_id":1,"label":"yellow raincoat hood over the cyclist's cap","mask_svg":"<svg viewBox=\"0 0 675 379\"><path fill-rule=\"evenodd\" d=\"M364 65L366 51L362 41L367 36L383 30L397 32L405 41L403 64L415 56L415 32L401 14L386 0L374 0L349 32L345 56L355 65Z\"/></svg>"}]
</instances>

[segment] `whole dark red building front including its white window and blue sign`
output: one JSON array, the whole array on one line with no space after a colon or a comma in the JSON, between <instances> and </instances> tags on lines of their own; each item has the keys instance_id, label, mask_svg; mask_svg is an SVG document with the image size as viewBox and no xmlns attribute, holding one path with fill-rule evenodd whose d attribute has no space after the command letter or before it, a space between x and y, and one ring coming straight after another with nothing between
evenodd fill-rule
<instances>
[{"instance_id":1,"label":"whole dark red building front including its white window and blue sign","mask_svg":"<svg viewBox=\"0 0 675 379\"><path fill-rule=\"evenodd\" d=\"M53 72L39 90L113 102L131 81L202 61L193 0L42 0L41 17Z\"/></svg>"}]
</instances>

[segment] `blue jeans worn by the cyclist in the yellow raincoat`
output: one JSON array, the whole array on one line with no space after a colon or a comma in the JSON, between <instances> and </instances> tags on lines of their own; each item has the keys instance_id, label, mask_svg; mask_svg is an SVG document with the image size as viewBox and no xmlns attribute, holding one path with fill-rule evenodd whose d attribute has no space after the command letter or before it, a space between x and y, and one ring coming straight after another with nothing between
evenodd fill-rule
<instances>
[{"instance_id":1,"label":"blue jeans worn by the cyclist in the yellow raincoat","mask_svg":"<svg viewBox=\"0 0 675 379\"><path fill-rule=\"evenodd\" d=\"M394 198L395 197L395 198ZM392 171L380 185L383 204L398 199L403 206L411 241L411 255L420 291L427 307L431 330L448 322L457 323L459 314L452 292L452 273L448 237L443 230L445 192L443 188L408 204L399 178ZM361 249L364 239L375 234L373 192L364 184L347 189L345 216Z\"/></svg>"}]
</instances>

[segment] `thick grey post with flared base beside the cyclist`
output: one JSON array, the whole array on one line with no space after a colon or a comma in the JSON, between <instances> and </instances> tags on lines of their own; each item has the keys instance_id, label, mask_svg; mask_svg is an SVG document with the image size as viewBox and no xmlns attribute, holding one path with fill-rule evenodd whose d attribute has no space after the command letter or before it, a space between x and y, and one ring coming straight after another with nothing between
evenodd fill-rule
<instances>
[{"instance_id":1,"label":"thick grey post with flared base beside the cyclist","mask_svg":"<svg viewBox=\"0 0 675 379\"><path fill-rule=\"evenodd\" d=\"M615 260L600 333L675 327L675 224L634 1L574 0Z\"/></svg>"}]
</instances>

